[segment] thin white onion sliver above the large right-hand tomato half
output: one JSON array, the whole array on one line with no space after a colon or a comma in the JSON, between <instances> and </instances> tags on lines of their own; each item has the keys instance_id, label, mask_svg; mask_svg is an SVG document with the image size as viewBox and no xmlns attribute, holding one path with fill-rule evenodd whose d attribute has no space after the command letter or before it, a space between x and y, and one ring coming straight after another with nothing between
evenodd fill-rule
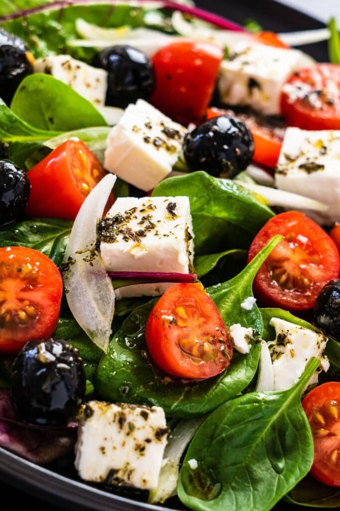
<instances>
[{"instance_id":1,"label":"thin white onion sliver above the large right-hand tomato half","mask_svg":"<svg viewBox=\"0 0 340 511\"><path fill-rule=\"evenodd\" d=\"M297 210L322 211L328 210L328 204L319 200L310 199L303 195L298 195L277 188L264 187L261 184L240 183L244 188L264 197L270 206L282 206L287 209L295 208Z\"/></svg>"}]
</instances>

